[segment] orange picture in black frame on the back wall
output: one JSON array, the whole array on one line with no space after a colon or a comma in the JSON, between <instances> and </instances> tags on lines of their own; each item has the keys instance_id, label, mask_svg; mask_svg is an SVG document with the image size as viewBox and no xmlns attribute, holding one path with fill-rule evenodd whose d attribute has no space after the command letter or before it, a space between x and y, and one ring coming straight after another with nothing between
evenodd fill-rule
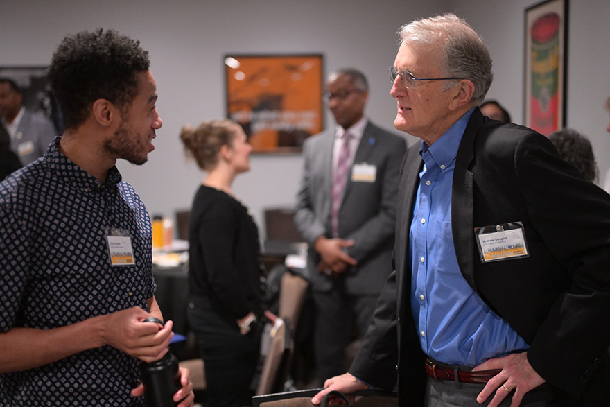
<instances>
[{"instance_id":1,"label":"orange picture in black frame on the back wall","mask_svg":"<svg viewBox=\"0 0 610 407\"><path fill-rule=\"evenodd\" d=\"M299 153L324 128L323 57L225 55L227 118L241 124L253 153Z\"/></svg>"}]
</instances>

